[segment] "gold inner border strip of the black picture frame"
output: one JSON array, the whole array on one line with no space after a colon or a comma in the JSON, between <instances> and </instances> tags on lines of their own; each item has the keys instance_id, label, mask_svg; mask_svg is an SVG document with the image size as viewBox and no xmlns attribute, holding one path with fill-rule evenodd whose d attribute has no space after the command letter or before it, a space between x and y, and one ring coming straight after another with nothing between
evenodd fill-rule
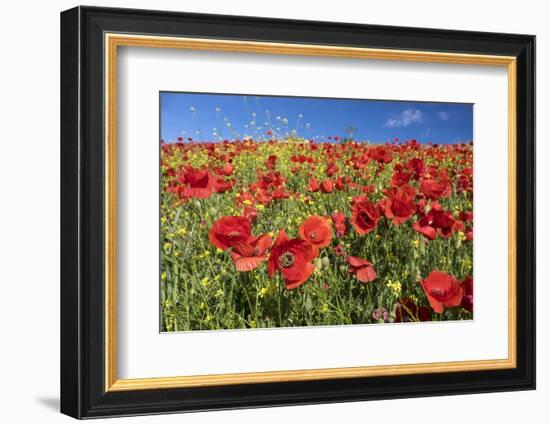
<instances>
[{"instance_id":1,"label":"gold inner border strip of the black picture frame","mask_svg":"<svg viewBox=\"0 0 550 425\"><path fill-rule=\"evenodd\" d=\"M120 46L325 56L355 59L494 65L508 71L508 358L306 369L274 372L117 379L116 372L116 98L117 51ZM308 381L354 377L410 375L510 369L516 353L516 58L462 53L370 49L327 45L267 43L199 38L105 34L105 391L136 391L266 382Z\"/></svg>"}]
</instances>

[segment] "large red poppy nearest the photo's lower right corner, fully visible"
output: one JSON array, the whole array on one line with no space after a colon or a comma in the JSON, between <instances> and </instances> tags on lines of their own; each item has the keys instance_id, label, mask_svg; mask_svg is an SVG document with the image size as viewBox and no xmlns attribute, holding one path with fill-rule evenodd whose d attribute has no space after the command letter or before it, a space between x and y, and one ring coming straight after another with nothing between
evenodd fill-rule
<instances>
[{"instance_id":1,"label":"large red poppy nearest the photo's lower right corner, fully visible","mask_svg":"<svg viewBox=\"0 0 550 425\"><path fill-rule=\"evenodd\" d=\"M436 313L443 313L445 308L456 307L462 302L464 292L458 280L447 273L433 270L420 284Z\"/></svg>"}]
</instances>

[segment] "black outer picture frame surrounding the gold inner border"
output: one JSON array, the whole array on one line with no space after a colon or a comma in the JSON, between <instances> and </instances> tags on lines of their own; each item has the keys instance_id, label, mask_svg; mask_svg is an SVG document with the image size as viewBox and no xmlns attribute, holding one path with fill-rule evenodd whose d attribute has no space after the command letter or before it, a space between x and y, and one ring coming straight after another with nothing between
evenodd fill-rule
<instances>
[{"instance_id":1,"label":"black outer picture frame surrounding the gold inner border","mask_svg":"<svg viewBox=\"0 0 550 425\"><path fill-rule=\"evenodd\" d=\"M517 367L105 392L104 33L517 58ZM61 412L93 418L535 388L535 37L76 7L61 13Z\"/></svg>"}]
</instances>

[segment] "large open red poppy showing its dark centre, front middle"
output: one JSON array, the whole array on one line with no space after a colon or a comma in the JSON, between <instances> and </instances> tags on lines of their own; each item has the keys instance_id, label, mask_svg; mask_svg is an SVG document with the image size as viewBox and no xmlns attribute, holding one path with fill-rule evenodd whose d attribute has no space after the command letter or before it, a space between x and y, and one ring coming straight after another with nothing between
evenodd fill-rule
<instances>
[{"instance_id":1,"label":"large open red poppy showing its dark centre, front middle","mask_svg":"<svg viewBox=\"0 0 550 425\"><path fill-rule=\"evenodd\" d=\"M283 275L286 289L294 289L309 279L315 266L312 245L303 239L288 239L284 230L279 231L275 244L271 248L267 262L269 277L279 270Z\"/></svg>"}]
</instances>

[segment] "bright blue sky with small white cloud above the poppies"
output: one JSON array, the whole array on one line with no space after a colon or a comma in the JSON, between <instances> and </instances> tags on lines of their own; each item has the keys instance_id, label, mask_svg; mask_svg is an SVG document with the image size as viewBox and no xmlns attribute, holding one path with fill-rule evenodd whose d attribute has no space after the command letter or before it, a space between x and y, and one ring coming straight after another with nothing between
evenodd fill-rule
<instances>
[{"instance_id":1,"label":"bright blue sky with small white cloud above the poppies","mask_svg":"<svg viewBox=\"0 0 550 425\"><path fill-rule=\"evenodd\" d=\"M416 139L457 143L473 139L473 105L465 103L382 101L160 93L161 138L194 140L266 138L296 134L313 140L346 137L371 142Z\"/></svg>"}]
</instances>

